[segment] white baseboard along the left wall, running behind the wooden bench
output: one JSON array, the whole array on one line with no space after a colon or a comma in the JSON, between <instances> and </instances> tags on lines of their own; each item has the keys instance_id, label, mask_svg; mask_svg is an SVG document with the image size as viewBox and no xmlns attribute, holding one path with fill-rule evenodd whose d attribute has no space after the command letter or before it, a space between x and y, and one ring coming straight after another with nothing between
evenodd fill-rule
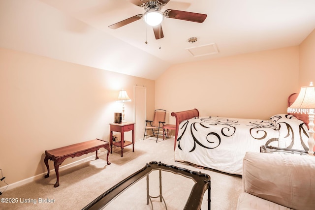
<instances>
[{"instance_id":1,"label":"white baseboard along the left wall, running behind the wooden bench","mask_svg":"<svg viewBox=\"0 0 315 210\"><path fill-rule=\"evenodd\" d=\"M106 153L106 152L101 151L100 153L97 154L97 156L100 157L100 156L104 155L104 153ZM94 160L94 159L95 159L95 156L96 156L96 155L94 154L94 155L85 157L85 158L83 158L83 159L81 159L81 160L77 160L77 161L75 161L75 162L66 164L66 165L64 165L64 166L60 166L60 167L59 167L59 172L61 172L61 171L63 171L63 170L66 170L66 169L68 169L68 168L71 168L71 167L80 165L80 164L82 164L82 163L84 163L84 162L86 162L86 161L90 161L90 159L91 159L91 160ZM55 174L55 169L51 169L51 170L49 171L49 173L50 173L50 174L52 174L52 173ZM22 186L22 185L24 185L24 184L31 183L32 181L35 181L35 180L45 179L44 176L45 176L46 174L47 174L47 172L44 172L44 173L35 175L35 176L33 176L33 177L27 178L27 179L25 179L25 180L20 180L20 181L11 183L11 184L9 184L9 185L2 186L2 187L0 187L0 191L3 193L3 190L5 190L6 187L7 187L6 190L14 189L14 188L19 187L19 186Z\"/></svg>"}]
</instances>

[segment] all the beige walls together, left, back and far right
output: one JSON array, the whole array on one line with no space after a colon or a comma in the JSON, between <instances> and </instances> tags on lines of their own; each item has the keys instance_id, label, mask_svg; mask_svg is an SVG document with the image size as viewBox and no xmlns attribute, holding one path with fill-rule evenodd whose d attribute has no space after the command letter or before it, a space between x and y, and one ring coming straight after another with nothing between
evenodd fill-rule
<instances>
[{"instance_id":1,"label":"all the beige walls together, left, back and far right","mask_svg":"<svg viewBox=\"0 0 315 210\"><path fill-rule=\"evenodd\" d=\"M0 48L0 168L14 183L46 172L44 150L108 139L119 90L133 98L134 85L147 87L148 119L166 109L175 123L171 112L193 108L268 119L286 112L290 93L315 82L314 58L315 31L297 47L176 64L152 81ZM132 113L126 103L126 120Z\"/></svg>"}]
</instances>

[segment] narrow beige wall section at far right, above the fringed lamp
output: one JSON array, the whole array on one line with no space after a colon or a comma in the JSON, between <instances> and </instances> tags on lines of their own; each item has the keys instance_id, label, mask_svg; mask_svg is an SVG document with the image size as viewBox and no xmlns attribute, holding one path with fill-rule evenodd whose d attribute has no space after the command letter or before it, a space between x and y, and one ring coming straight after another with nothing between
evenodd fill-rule
<instances>
[{"instance_id":1,"label":"narrow beige wall section at far right, above the fringed lamp","mask_svg":"<svg viewBox=\"0 0 315 210\"><path fill-rule=\"evenodd\" d=\"M300 45L299 86L308 86L310 82L315 85L315 30Z\"/></svg>"}]
</instances>

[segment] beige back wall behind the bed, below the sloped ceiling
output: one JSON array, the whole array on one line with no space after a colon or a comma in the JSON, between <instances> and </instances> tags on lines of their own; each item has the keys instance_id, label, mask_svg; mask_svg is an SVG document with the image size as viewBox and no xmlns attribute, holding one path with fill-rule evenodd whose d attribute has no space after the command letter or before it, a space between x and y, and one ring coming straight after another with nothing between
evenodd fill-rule
<instances>
[{"instance_id":1,"label":"beige back wall behind the bed, below the sloped ceiling","mask_svg":"<svg viewBox=\"0 0 315 210\"><path fill-rule=\"evenodd\" d=\"M299 47L171 66L156 80L156 108L200 116L268 119L299 89Z\"/></svg>"}]
</instances>

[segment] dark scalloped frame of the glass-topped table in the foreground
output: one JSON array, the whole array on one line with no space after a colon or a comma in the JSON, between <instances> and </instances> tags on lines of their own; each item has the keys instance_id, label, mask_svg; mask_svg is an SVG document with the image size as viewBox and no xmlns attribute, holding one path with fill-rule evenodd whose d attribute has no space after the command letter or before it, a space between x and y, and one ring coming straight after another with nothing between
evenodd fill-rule
<instances>
[{"instance_id":1,"label":"dark scalloped frame of the glass-topped table in the foreground","mask_svg":"<svg viewBox=\"0 0 315 210\"><path fill-rule=\"evenodd\" d=\"M139 171L127 177L125 180L120 181L119 183L117 183L116 185L114 185L113 187L105 191L103 194L98 196L94 201L92 201L82 210L101 209L106 204L108 204L112 199L114 199L116 196L121 194L124 190L126 190L128 187L136 183L141 178L147 176L147 179L148 179L148 174L152 172L153 170L168 171L168 172L172 172L173 174L179 174L179 175L182 175L184 177L194 180L195 184L191 188L190 195L189 195L188 201L186 202L184 210L200 210L203 194L207 190L208 190L208 210L211 209L211 206L210 206L211 179L209 175L202 174L201 172L190 171L185 168L179 168L176 166L166 165L161 162L153 161L153 162L147 163L145 167L143 167ZM147 182L147 188L148 188L148 182ZM160 195L157 197L160 197L160 201L163 199L161 196L161 192L160 192ZM149 192L147 189L147 204L149 203L149 199L151 200L151 198L153 197L149 195ZM164 201L164 204L165 204L165 201Z\"/></svg>"}]
</instances>

